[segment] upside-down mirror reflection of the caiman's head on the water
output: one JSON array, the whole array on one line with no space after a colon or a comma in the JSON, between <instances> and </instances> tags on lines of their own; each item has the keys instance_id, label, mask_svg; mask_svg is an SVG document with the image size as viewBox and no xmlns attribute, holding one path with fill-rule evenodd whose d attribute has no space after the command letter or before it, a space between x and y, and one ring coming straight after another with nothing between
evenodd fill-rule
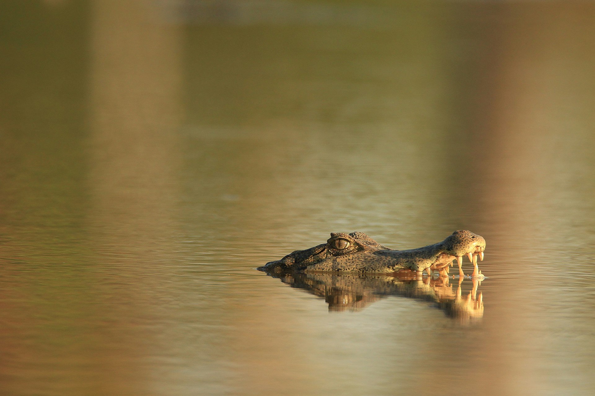
<instances>
[{"instance_id":1,"label":"upside-down mirror reflection of the caiman's head on the water","mask_svg":"<svg viewBox=\"0 0 595 396\"><path fill-rule=\"evenodd\" d=\"M386 296L403 296L431 301L446 315L468 321L483 316L482 293L477 296L481 281L472 278L472 289L462 297L464 278L459 278L453 291L448 277L416 278L414 273L403 271L398 276L362 274L270 274L283 283L298 289L308 290L315 296L324 297L329 311L359 311L365 306Z\"/></svg>"}]
</instances>

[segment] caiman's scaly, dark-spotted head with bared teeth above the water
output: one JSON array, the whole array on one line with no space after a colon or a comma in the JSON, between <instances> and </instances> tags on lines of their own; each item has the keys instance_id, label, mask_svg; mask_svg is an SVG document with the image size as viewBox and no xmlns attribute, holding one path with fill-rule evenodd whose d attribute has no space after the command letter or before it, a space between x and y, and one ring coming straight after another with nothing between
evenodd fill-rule
<instances>
[{"instance_id":1,"label":"caiman's scaly, dark-spotted head with bared teeth above the water","mask_svg":"<svg viewBox=\"0 0 595 396\"><path fill-rule=\"evenodd\" d=\"M331 233L327 243L303 251L295 251L284 258L268 262L256 268L268 273L300 271L349 272L349 273L395 273L412 270L417 273L437 270L447 276L449 265L454 259L459 264L459 275L465 276L461 264L462 256L468 256L474 264L472 277L481 276L477 257L483 260L486 240L466 230L458 230L442 242L423 248L396 251L380 245L361 232Z\"/></svg>"}]
</instances>

